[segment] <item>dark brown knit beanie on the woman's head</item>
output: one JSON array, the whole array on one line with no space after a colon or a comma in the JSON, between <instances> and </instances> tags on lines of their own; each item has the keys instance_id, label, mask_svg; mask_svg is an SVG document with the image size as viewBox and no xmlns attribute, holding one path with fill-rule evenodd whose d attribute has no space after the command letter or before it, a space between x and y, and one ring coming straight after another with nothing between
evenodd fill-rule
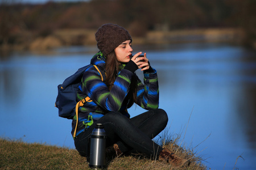
<instances>
[{"instance_id":1,"label":"dark brown knit beanie on the woman's head","mask_svg":"<svg viewBox=\"0 0 256 170\"><path fill-rule=\"evenodd\" d=\"M108 56L115 48L117 48L122 42L131 40L129 32L119 25L104 24L95 33L98 49Z\"/></svg>"}]
</instances>

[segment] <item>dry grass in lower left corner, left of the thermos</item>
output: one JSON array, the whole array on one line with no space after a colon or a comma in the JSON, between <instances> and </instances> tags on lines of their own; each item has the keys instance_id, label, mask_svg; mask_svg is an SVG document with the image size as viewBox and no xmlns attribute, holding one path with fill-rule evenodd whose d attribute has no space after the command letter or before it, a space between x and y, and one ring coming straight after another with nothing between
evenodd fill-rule
<instances>
[{"instance_id":1,"label":"dry grass in lower left corner, left of the thermos","mask_svg":"<svg viewBox=\"0 0 256 170\"><path fill-rule=\"evenodd\" d=\"M0 139L0 169L83 169L76 150Z\"/></svg>"}]
</instances>

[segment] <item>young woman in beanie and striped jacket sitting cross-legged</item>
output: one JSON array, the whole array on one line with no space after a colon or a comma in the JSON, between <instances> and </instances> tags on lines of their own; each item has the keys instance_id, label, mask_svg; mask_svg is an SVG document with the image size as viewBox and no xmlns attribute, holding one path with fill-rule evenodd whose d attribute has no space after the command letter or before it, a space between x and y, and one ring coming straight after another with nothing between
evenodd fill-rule
<instances>
[{"instance_id":1,"label":"young woman in beanie and striped jacket sitting cross-legged","mask_svg":"<svg viewBox=\"0 0 256 170\"><path fill-rule=\"evenodd\" d=\"M183 165L187 160L152 141L166 128L168 117L165 111L158 109L158 76L146 53L139 58L142 52L132 56L131 36L119 25L104 24L95 36L100 52L91 59L92 66L85 71L77 94L77 101L90 98L79 108L75 134L77 151L86 156L88 138L97 122L104 125L109 150L114 149L117 154L141 152L152 159ZM144 73L144 84L135 74L137 69ZM130 118L127 109L134 103L147 112ZM75 116L72 135L76 121Z\"/></svg>"}]
</instances>

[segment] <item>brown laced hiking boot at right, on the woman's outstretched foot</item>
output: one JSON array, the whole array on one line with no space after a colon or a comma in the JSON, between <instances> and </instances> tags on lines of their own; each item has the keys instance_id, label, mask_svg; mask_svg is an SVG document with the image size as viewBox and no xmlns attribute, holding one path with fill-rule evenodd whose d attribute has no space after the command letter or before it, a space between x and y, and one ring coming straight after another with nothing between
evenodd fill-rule
<instances>
[{"instance_id":1,"label":"brown laced hiking boot at right, on the woman's outstretched foot","mask_svg":"<svg viewBox=\"0 0 256 170\"><path fill-rule=\"evenodd\" d=\"M159 153L159 160L167 161L167 163L174 165L175 167L181 167L181 166L187 167L190 163L189 160L180 158L168 148L164 148Z\"/></svg>"}]
</instances>

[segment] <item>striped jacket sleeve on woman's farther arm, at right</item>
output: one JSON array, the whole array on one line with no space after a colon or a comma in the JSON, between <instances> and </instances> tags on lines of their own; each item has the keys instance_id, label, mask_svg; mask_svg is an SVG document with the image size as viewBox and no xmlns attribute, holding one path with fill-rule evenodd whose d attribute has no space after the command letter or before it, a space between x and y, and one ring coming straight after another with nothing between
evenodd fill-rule
<instances>
[{"instance_id":1,"label":"striped jacket sleeve on woman's farther arm, at right","mask_svg":"<svg viewBox=\"0 0 256 170\"><path fill-rule=\"evenodd\" d=\"M158 75L153 70L153 73L144 73L144 84L137 78L137 104L147 110L159 107Z\"/></svg>"}]
</instances>

